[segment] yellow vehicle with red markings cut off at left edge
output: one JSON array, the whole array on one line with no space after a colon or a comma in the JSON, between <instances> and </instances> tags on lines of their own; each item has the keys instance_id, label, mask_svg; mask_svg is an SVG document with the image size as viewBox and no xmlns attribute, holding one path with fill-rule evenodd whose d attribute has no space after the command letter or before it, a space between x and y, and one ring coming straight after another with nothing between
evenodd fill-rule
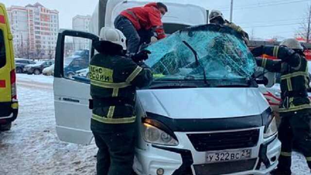
<instances>
[{"instance_id":1,"label":"yellow vehicle with red markings cut off at left edge","mask_svg":"<svg viewBox=\"0 0 311 175\"><path fill-rule=\"evenodd\" d=\"M2 3L0 17L0 131L6 131L17 118L18 101L10 20Z\"/></svg>"}]
</instances>

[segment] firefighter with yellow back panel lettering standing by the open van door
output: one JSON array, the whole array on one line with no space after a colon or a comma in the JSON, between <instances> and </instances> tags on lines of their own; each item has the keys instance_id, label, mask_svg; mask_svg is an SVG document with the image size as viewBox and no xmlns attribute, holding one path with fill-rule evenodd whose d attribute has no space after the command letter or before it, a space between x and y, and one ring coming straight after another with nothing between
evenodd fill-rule
<instances>
[{"instance_id":1,"label":"firefighter with yellow back panel lettering standing by the open van door","mask_svg":"<svg viewBox=\"0 0 311 175\"><path fill-rule=\"evenodd\" d=\"M152 72L142 60L148 51L133 59L125 56L126 38L121 31L104 27L100 41L93 44L99 52L91 59L91 130L97 153L97 175L130 175L133 171L136 88L148 86ZM136 62L134 62L135 60Z\"/></svg>"}]
</instances>

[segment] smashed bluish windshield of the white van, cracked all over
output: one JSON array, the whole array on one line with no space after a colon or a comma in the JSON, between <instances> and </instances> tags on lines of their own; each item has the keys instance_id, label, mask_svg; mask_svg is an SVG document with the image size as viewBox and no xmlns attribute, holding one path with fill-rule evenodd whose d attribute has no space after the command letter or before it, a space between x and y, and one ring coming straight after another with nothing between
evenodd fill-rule
<instances>
[{"instance_id":1,"label":"smashed bluish windshield of the white van, cracked all over","mask_svg":"<svg viewBox=\"0 0 311 175\"><path fill-rule=\"evenodd\" d=\"M177 31L147 50L155 80L202 80L204 70L207 79L249 78L256 65L240 35L212 24Z\"/></svg>"}]
</instances>

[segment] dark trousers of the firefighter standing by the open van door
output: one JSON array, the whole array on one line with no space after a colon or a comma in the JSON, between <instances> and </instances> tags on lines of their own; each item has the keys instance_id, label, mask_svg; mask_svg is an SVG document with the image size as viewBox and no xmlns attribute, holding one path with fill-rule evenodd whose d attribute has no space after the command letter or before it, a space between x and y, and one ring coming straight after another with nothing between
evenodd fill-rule
<instances>
[{"instance_id":1,"label":"dark trousers of the firefighter standing by the open van door","mask_svg":"<svg viewBox=\"0 0 311 175\"><path fill-rule=\"evenodd\" d=\"M133 173L135 155L134 125L125 126L127 127L126 130L122 127L124 124L120 124L120 127L118 125L114 124L114 126L110 127L109 124L91 122L91 130L98 147L97 175L132 175ZM103 126L103 129L100 129L101 126Z\"/></svg>"}]
</instances>

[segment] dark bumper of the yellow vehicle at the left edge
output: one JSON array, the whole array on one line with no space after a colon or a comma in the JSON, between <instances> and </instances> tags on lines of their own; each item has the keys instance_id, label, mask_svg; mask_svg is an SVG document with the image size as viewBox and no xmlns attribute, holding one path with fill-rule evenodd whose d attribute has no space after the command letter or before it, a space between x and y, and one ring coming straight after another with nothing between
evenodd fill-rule
<instances>
[{"instance_id":1,"label":"dark bumper of the yellow vehicle at the left edge","mask_svg":"<svg viewBox=\"0 0 311 175\"><path fill-rule=\"evenodd\" d=\"M17 114L18 102L0 102L0 124L15 121Z\"/></svg>"}]
</instances>

